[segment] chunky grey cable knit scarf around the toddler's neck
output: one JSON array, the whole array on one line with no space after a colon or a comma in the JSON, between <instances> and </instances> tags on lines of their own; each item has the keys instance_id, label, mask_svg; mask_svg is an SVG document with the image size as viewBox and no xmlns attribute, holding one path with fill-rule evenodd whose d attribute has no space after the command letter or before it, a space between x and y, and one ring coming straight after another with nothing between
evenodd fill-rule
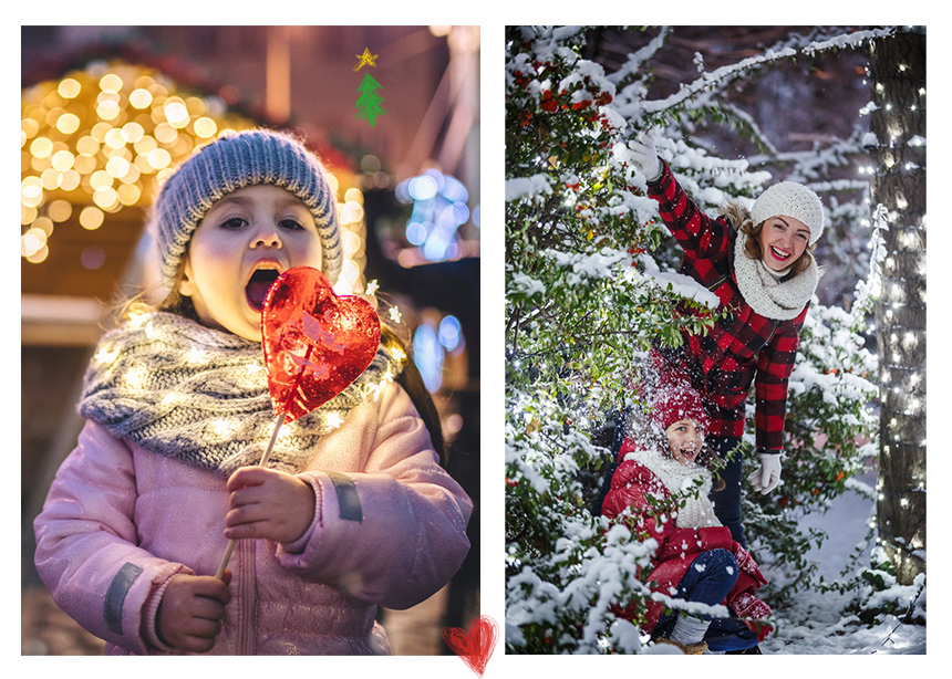
<instances>
[{"instance_id":1,"label":"chunky grey cable knit scarf around the toddler's neck","mask_svg":"<svg viewBox=\"0 0 952 679\"><path fill-rule=\"evenodd\" d=\"M320 437L399 369L381 347L343 393L282 425L269 467L302 469ZM138 316L100 341L79 412L116 438L223 476L257 464L277 424L259 342L163 312Z\"/></svg>"}]
</instances>

